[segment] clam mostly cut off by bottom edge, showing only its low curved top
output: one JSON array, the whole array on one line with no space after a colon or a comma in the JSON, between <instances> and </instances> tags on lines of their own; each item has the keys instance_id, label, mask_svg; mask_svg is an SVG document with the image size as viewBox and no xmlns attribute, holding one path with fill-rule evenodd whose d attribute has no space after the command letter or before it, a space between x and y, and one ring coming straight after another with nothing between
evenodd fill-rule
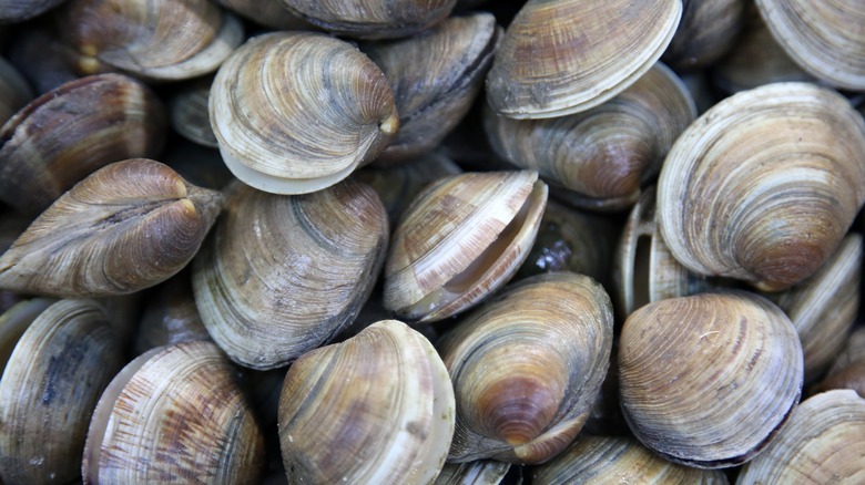
<instances>
[{"instance_id":1,"label":"clam mostly cut off by bottom edge, showing only its low curved top","mask_svg":"<svg viewBox=\"0 0 865 485\"><path fill-rule=\"evenodd\" d=\"M561 455L533 466L531 483L721 485L727 479L721 471L668 462L632 437L587 435L579 437Z\"/></svg>"}]
</instances>

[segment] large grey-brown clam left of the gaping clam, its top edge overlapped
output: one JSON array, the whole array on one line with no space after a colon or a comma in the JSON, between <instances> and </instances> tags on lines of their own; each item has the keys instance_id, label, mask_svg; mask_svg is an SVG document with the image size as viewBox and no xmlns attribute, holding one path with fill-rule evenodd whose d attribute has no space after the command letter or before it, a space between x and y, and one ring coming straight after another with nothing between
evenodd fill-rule
<instances>
[{"instance_id":1,"label":"large grey-brown clam left of the gaping clam, its top edge overlapped","mask_svg":"<svg viewBox=\"0 0 865 485\"><path fill-rule=\"evenodd\" d=\"M357 317L388 233L381 202L359 182L297 196L235 184L194 261L202 321L235 362L286 365Z\"/></svg>"}]
</instances>

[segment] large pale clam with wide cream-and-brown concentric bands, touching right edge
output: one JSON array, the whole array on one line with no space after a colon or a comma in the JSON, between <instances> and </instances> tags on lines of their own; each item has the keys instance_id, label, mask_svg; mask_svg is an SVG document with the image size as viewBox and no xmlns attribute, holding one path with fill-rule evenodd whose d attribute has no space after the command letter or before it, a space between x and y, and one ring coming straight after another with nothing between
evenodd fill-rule
<instances>
[{"instance_id":1,"label":"large pale clam with wide cream-and-brown concentric bands, touching right edge","mask_svg":"<svg viewBox=\"0 0 865 485\"><path fill-rule=\"evenodd\" d=\"M676 140L658 221L692 271L782 290L834 252L865 200L865 122L824 87L777 83L718 103Z\"/></svg>"}]
</instances>

